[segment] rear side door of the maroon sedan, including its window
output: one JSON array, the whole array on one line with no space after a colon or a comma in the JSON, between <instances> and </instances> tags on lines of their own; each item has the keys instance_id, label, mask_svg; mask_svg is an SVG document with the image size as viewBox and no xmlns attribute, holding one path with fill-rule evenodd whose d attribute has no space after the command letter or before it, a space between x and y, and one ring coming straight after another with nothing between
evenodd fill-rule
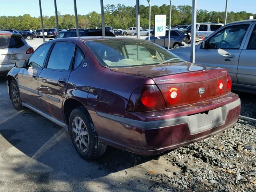
<instances>
[{"instance_id":1,"label":"rear side door of the maroon sedan, including its window","mask_svg":"<svg viewBox=\"0 0 256 192\"><path fill-rule=\"evenodd\" d=\"M62 102L67 92L75 48L73 43L55 43L38 78L42 111L61 121L64 121Z\"/></svg>"}]
</instances>

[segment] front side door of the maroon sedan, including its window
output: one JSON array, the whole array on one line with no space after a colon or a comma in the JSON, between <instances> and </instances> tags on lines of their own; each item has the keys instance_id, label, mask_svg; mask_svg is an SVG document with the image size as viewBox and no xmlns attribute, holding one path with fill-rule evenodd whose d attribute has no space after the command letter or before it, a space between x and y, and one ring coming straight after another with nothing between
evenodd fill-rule
<instances>
[{"instance_id":1,"label":"front side door of the maroon sedan, including its window","mask_svg":"<svg viewBox=\"0 0 256 192\"><path fill-rule=\"evenodd\" d=\"M44 62L51 44L44 44L36 49L28 60L28 67L22 68L18 74L18 84L22 102L40 109L38 95L38 76L42 72Z\"/></svg>"}]
</instances>

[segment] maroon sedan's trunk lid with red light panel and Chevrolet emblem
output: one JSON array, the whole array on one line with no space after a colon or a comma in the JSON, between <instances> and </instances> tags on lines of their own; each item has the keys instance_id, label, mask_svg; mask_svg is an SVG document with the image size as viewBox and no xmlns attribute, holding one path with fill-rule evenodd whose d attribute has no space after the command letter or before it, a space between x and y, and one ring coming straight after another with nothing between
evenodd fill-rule
<instances>
[{"instance_id":1,"label":"maroon sedan's trunk lid with red light panel and Chevrolet emblem","mask_svg":"<svg viewBox=\"0 0 256 192\"><path fill-rule=\"evenodd\" d=\"M228 72L223 68L183 62L111 70L152 78L168 108L202 102L230 92L227 89ZM176 99L172 99L170 94L175 90Z\"/></svg>"}]
</instances>

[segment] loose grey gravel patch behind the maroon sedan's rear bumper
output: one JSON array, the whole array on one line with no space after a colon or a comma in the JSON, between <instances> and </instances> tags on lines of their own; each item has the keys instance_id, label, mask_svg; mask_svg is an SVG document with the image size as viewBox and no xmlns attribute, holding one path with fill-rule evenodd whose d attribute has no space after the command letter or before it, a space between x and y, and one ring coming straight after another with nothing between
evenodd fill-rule
<instances>
[{"instance_id":1,"label":"loose grey gravel patch behind the maroon sedan's rear bumper","mask_svg":"<svg viewBox=\"0 0 256 192\"><path fill-rule=\"evenodd\" d=\"M149 172L151 191L256 191L256 124L245 120L216 136L164 155L176 169ZM174 172L174 170L180 171Z\"/></svg>"}]
</instances>

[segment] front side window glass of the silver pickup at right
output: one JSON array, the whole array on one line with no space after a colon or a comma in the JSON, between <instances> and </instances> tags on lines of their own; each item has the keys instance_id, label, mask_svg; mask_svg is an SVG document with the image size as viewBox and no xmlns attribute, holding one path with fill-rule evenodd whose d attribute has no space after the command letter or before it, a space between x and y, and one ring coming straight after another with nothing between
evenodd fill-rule
<instances>
[{"instance_id":1,"label":"front side window glass of the silver pickup at right","mask_svg":"<svg viewBox=\"0 0 256 192\"><path fill-rule=\"evenodd\" d=\"M239 49L249 24L224 28L209 40L209 49Z\"/></svg>"}]
</instances>

